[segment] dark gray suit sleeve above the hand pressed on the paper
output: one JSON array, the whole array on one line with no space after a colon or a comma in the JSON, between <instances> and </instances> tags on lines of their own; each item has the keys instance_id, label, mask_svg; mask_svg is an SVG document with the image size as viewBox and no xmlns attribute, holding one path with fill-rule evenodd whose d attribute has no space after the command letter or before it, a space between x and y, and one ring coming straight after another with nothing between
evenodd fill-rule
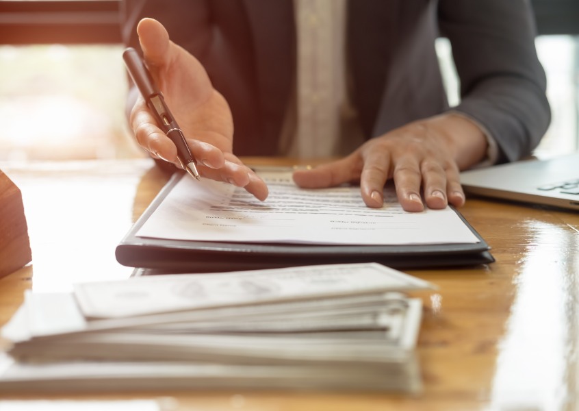
<instances>
[{"instance_id":1,"label":"dark gray suit sleeve above the hand pressed on the paper","mask_svg":"<svg viewBox=\"0 0 579 411\"><path fill-rule=\"evenodd\" d=\"M453 110L490 132L499 162L529 155L551 119L529 1L440 0L439 27L461 82L461 103Z\"/></svg>"}]
</instances>

